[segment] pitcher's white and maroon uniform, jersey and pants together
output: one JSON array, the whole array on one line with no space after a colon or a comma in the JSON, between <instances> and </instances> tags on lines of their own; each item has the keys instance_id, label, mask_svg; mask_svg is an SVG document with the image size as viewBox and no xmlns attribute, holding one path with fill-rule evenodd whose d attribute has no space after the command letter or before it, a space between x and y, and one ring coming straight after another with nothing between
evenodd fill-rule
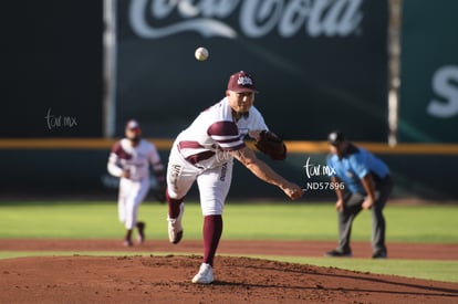
<instances>
[{"instance_id":1,"label":"pitcher's white and maroon uniform, jersey and pants together","mask_svg":"<svg viewBox=\"0 0 458 304\"><path fill-rule=\"evenodd\" d=\"M268 129L259 111L236 122L227 97L200 113L171 147L167 168L167 192L181 199L197 180L204 216L221 214L232 179L229 151L246 147L244 136L258 137Z\"/></svg>"}]
</instances>

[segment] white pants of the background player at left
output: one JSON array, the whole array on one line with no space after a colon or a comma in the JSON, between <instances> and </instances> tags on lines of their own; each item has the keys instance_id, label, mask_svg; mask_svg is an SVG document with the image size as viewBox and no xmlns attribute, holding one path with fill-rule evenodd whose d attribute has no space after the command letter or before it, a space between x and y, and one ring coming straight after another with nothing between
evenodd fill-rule
<instances>
[{"instance_id":1,"label":"white pants of the background player at left","mask_svg":"<svg viewBox=\"0 0 458 304\"><path fill-rule=\"evenodd\" d=\"M119 179L119 196L117 211L119 221L127 230L134 229L137 223L138 208L149 190L149 179L132 180Z\"/></svg>"}]
</instances>

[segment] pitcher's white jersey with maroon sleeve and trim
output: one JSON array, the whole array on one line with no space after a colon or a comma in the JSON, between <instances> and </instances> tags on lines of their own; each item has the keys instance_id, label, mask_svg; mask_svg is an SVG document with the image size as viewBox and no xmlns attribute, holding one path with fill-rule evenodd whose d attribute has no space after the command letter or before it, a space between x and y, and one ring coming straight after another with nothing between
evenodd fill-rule
<instances>
[{"instance_id":1,"label":"pitcher's white jersey with maroon sleeve and trim","mask_svg":"<svg viewBox=\"0 0 458 304\"><path fill-rule=\"evenodd\" d=\"M247 135L256 138L264 129L268 127L254 106L250 107L248 117L242 116L235 122L232 108L225 97L201 112L194 123L178 135L176 143L186 160L207 169L226 163L230 158L227 151L243 148L243 138Z\"/></svg>"}]
</instances>

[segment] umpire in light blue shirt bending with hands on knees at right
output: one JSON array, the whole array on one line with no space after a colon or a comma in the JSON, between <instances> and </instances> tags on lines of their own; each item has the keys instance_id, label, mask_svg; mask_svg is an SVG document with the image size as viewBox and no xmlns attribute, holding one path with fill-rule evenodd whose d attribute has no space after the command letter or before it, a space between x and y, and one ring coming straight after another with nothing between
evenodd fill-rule
<instances>
[{"instance_id":1,"label":"umpire in light blue shirt bending with hands on knees at right","mask_svg":"<svg viewBox=\"0 0 458 304\"><path fill-rule=\"evenodd\" d=\"M367 209L372 213L372 258L387 258L383 209L393 190L388 166L366 149L348 141L341 130L331 132L327 139L330 155L326 165L333 168L331 181L344 187L334 187L337 196L339 245L325 255L352 255L352 224L356 216Z\"/></svg>"}]
</instances>

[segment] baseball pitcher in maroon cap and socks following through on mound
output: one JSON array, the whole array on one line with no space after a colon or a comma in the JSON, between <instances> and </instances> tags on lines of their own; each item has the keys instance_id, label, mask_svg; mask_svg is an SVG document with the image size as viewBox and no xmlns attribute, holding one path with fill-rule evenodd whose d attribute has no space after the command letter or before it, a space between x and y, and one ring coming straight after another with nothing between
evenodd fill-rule
<instances>
[{"instance_id":1,"label":"baseball pitcher in maroon cap and socks following through on mound","mask_svg":"<svg viewBox=\"0 0 458 304\"><path fill-rule=\"evenodd\" d=\"M243 138L262 141L260 147L274 159L284 159L282 140L268 133L261 113L253 106L254 80L243 71L230 76L226 97L201 112L191 125L176 138L167 168L169 241L183 238L181 218L186 193L197 181L204 216L204 259L192 283L214 281L212 263L222 233L222 210L232 178L233 158L261 180L279 187L289 198L299 199L303 190L257 158ZM262 135L261 135L262 134ZM270 135L266 135L270 134ZM277 144L275 144L277 143Z\"/></svg>"}]
</instances>

